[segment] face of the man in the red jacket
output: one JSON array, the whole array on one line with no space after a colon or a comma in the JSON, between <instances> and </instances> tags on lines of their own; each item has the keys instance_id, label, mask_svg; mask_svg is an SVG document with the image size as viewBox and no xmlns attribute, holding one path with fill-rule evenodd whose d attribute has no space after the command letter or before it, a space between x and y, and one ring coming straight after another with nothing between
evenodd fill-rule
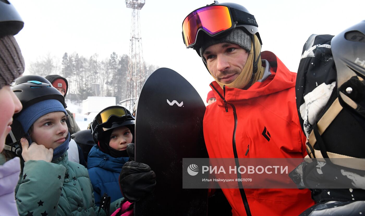
<instances>
[{"instance_id":1,"label":"face of the man in the red jacket","mask_svg":"<svg viewBox=\"0 0 365 216\"><path fill-rule=\"evenodd\" d=\"M205 49L203 56L218 82L230 84L242 72L249 53L235 43L217 43Z\"/></svg>"}]
</instances>

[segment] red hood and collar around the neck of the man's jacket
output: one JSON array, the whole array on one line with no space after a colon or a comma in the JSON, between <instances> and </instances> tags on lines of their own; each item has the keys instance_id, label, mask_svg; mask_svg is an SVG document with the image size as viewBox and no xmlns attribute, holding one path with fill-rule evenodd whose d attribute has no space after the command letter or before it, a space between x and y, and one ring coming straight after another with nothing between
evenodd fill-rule
<instances>
[{"instance_id":1,"label":"red hood and collar around the neck of the man's jacket","mask_svg":"<svg viewBox=\"0 0 365 216\"><path fill-rule=\"evenodd\" d=\"M224 87L223 91L216 81L210 84L218 106L224 109L224 99L227 103L247 102L247 99L295 87L296 73L290 72L274 53L269 51L261 52L261 58L264 61L262 65L265 67L264 76L247 90ZM266 65L264 66L265 62ZM228 109L231 109L230 106L228 106Z\"/></svg>"}]
</instances>

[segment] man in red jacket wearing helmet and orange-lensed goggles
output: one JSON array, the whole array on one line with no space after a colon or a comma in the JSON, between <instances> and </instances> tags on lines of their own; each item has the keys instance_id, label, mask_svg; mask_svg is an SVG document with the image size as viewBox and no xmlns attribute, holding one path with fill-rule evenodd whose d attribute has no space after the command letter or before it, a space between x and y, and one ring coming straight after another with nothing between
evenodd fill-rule
<instances>
[{"instance_id":1,"label":"man in red jacket wearing helmet and orange-lensed goggles","mask_svg":"<svg viewBox=\"0 0 365 216\"><path fill-rule=\"evenodd\" d=\"M261 53L257 27L245 7L217 1L184 19L185 45L196 50L215 79L210 86L216 103L207 106L203 121L210 158L307 154L295 102L296 73L272 52ZM233 215L299 215L313 204L309 190L222 190Z\"/></svg>"}]
</instances>

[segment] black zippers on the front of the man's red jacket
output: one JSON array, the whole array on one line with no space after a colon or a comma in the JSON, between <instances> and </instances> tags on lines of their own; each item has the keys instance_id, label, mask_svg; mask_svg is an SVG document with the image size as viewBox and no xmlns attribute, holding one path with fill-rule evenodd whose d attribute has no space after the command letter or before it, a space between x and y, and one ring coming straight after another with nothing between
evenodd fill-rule
<instances>
[{"instance_id":1,"label":"black zippers on the front of the man's red jacket","mask_svg":"<svg viewBox=\"0 0 365 216\"><path fill-rule=\"evenodd\" d=\"M223 95L224 95L224 97L222 97L222 95L213 86L212 83L210 85L218 93L218 95L220 96L220 98L222 98L222 100L224 101L224 108L226 109L226 113L228 113L228 106L227 106L227 102L226 102L226 85L223 85ZM236 113L236 107L233 104L231 104L231 103L228 103L228 104L231 105L231 107L233 109L233 116L234 116L234 129L233 129L233 138L232 138L233 155L234 155L234 158L235 158L236 166L239 167L238 154L237 154L237 148L236 148L236 128L237 128L237 120L238 120L238 118L237 118L237 113ZM248 149L247 149L246 155L247 155L247 153L248 153ZM241 173L237 172L237 177L238 178L241 178ZM239 192L241 193L241 198L242 198L243 206L245 206L246 215L247 216L251 216L249 202L247 201L247 197L246 197L245 190L243 189L243 185L240 182L238 182L238 187L239 187Z\"/></svg>"}]
</instances>

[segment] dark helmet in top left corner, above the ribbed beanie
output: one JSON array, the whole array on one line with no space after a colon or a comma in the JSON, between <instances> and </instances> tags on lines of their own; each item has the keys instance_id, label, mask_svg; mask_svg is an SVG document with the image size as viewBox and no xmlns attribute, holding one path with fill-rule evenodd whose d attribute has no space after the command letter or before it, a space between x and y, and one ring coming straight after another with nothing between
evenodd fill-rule
<instances>
[{"instance_id":1,"label":"dark helmet in top left corner, above the ribbed beanie","mask_svg":"<svg viewBox=\"0 0 365 216\"><path fill-rule=\"evenodd\" d=\"M0 0L0 37L16 35L23 29L24 22L8 0Z\"/></svg>"}]
</instances>

